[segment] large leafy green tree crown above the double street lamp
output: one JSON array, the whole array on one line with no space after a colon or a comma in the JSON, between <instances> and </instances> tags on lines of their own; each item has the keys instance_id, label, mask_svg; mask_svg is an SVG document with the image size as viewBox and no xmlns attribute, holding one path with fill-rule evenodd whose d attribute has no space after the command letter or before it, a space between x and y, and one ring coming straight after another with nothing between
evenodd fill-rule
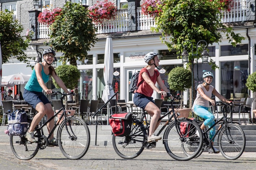
<instances>
[{"instance_id":1,"label":"large leafy green tree crown above the double street lamp","mask_svg":"<svg viewBox=\"0 0 256 170\"><path fill-rule=\"evenodd\" d=\"M169 50L175 49L181 54L182 42L185 40L191 41L194 49L200 40L208 44L221 42L221 32L226 34L229 43L234 46L244 40L244 37L232 31L232 27L221 22L219 0L164 0L163 4L158 6L160 13L155 18L156 28L152 29L162 31L160 39ZM197 56L191 55L190 44L187 47L191 63L192 58Z\"/></svg>"}]
</instances>

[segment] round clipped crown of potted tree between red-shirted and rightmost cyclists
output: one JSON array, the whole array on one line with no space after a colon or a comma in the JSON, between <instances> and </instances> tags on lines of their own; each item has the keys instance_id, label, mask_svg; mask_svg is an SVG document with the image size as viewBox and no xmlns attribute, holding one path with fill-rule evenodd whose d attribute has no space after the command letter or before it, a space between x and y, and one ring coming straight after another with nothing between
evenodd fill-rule
<instances>
[{"instance_id":1,"label":"round clipped crown of potted tree between red-shirted and rightmost cyclists","mask_svg":"<svg viewBox=\"0 0 256 170\"><path fill-rule=\"evenodd\" d=\"M174 91L186 91L192 85L191 79L192 73L190 70L183 67L176 67L169 72L168 84L170 89Z\"/></svg>"}]
</instances>

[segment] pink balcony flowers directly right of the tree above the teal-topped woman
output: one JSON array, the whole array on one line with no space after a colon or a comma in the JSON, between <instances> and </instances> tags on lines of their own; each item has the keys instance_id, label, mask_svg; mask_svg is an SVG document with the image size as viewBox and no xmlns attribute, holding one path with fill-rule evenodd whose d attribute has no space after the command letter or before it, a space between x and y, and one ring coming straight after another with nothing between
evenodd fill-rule
<instances>
[{"instance_id":1,"label":"pink balcony flowers directly right of the tree above the teal-topped woman","mask_svg":"<svg viewBox=\"0 0 256 170\"><path fill-rule=\"evenodd\" d=\"M98 24L102 23L103 20L115 19L116 17L116 6L114 3L108 0L97 1L96 4L88 8L89 16L93 22Z\"/></svg>"}]
</instances>

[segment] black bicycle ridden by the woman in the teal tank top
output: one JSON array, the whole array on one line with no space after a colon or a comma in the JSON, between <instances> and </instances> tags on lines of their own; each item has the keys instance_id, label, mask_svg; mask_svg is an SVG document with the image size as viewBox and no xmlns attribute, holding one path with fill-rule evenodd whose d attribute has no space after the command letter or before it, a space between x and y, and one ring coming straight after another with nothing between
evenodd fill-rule
<instances>
[{"instance_id":1,"label":"black bicycle ridden by the woman in the teal tank top","mask_svg":"<svg viewBox=\"0 0 256 170\"><path fill-rule=\"evenodd\" d=\"M63 99L68 95L72 95L73 92L69 94L63 94L58 91L52 93L52 95L58 94L61 94L62 109L45 123L42 124L40 122L39 125L36 126L34 130L36 143L27 141L27 138L24 135L10 136L10 146L17 158L21 160L30 160L39 150L45 149L48 146L50 136L57 127L58 146L65 157L71 160L76 160L83 157L87 152L91 138L87 124L83 119L77 116L70 116L70 113L66 111L66 107L63 105ZM61 113L61 116L54 125L54 128L48 137L45 136L43 127L45 127L47 123L53 120L59 113ZM28 127L30 126L33 117L34 114L28 114ZM63 121L60 123L62 118Z\"/></svg>"}]
</instances>

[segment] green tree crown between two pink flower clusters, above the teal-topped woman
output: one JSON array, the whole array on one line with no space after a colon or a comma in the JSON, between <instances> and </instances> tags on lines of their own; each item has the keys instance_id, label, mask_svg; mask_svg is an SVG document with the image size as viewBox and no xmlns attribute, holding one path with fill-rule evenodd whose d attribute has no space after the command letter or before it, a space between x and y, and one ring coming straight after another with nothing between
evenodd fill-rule
<instances>
[{"instance_id":1,"label":"green tree crown between two pink flower clusters, above the teal-topped woman","mask_svg":"<svg viewBox=\"0 0 256 170\"><path fill-rule=\"evenodd\" d=\"M67 1L50 29L49 45L63 52L61 60L71 65L76 65L76 60L84 61L97 41L87 9L78 3Z\"/></svg>"}]
</instances>

